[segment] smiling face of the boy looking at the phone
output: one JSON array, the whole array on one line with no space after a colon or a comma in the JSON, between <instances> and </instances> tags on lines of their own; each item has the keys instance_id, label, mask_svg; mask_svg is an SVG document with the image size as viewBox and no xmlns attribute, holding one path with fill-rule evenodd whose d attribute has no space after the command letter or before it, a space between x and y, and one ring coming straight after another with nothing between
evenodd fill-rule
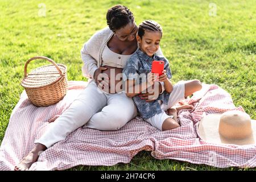
<instances>
[{"instance_id":1,"label":"smiling face of the boy looking at the phone","mask_svg":"<svg viewBox=\"0 0 256 182\"><path fill-rule=\"evenodd\" d=\"M148 56L152 56L158 51L161 38L162 33L156 31L145 30L142 39L137 35L137 41L141 47L141 51Z\"/></svg>"}]
</instances>

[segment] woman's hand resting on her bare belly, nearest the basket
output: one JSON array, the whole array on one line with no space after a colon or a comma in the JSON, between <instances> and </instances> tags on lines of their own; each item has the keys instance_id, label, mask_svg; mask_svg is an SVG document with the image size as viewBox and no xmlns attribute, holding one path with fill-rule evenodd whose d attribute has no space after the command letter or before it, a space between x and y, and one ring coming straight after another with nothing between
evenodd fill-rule
<instances>
[{"instance_id":1,"label":"woman's hand resting on her bare belly, nearest the basket","mask_svg":"<svg viewBox=\"0 0 256 182\"><path fill-rule=\"evenodd\" d=\"M101 89L109 89L109 77L108 75L102 73L103 71L107 70L106 67L97 68L94 72L94 80L96 81L97 86Z\"/></svg>"}]
</instances>

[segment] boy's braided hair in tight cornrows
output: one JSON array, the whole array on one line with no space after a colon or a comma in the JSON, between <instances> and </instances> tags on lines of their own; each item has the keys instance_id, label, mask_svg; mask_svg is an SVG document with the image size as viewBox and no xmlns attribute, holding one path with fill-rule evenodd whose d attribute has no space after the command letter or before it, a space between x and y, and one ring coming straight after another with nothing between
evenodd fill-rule
<instances>
[{"instance_id":1,"label":"boy's braided hair in tight cornrows","mask_svg":"<svg viewBox=\"0 0 256 182\"><path fill-rule=\"evenodd\" d=\"M141 39L142 36L145 34L145 30L160 32L161 34L163 34L162 27L154 20L144 20L141 24L139 24L138 35Z\"/></svg>"}]
</instances>

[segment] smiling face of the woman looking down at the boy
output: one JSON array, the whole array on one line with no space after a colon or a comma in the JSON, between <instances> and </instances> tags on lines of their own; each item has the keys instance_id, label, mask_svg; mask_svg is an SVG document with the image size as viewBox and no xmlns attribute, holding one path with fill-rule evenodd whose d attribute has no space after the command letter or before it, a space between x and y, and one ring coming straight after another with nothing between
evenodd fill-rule
<instances>
[{"instance_id":1,"label":"smiling face of the woman looking down at the boy","mask_svg":"<svg viewBox=\"0 0 256 182\"><path fill-rule=\"evenodd\" d=\"M136 38L138 27L135 21L128 23L125 27L115 30L115 36L121 41L133 41Z\"/></svg>"}]
</instances>

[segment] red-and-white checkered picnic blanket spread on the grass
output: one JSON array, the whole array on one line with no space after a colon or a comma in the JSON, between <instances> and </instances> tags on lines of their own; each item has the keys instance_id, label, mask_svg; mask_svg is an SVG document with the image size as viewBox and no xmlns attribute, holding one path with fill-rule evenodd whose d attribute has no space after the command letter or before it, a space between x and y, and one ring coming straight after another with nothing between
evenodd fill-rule
<instances>
[{"instance_id":1,"label":"red-and-white checkered picnic blanket spread on the grass","mask_svg":"<svg viewBox=\"0 0 256 182\"><path fill-rule=\"evenodd\" d=\"M14 166L34 147L35 139L51 125L49 119L60 115L84 89L87 82L69 81L67 95L58 104L36 107L26 92L20 96L11 113L0 147L0 170ZM63 170L71 167L113 166L129 163L139 151L151 151L156 159L175 159L214 167L256 167L256 147L207 143L200 139L198 123L205 114L241 110L230 94L217 85L204 84L203 89L181 104L192 104L193 111L180 110L181 127L160 131L137 117L117 131L82 128L42 152L30 170Z\"/></svg>"}]
</instances>

